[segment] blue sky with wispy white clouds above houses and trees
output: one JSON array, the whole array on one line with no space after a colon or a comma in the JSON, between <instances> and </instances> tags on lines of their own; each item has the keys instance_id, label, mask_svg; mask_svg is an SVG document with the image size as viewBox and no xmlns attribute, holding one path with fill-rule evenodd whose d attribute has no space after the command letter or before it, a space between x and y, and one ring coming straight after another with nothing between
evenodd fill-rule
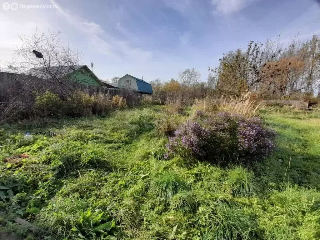
<instances>
[{"instance_id":1,"label":"blue sky with wispy white clouds above houses and trees","mask_svg":"<svg viewBox=\"0 0 320 240\"><path fill-rule=\"evenodd\" d=\"M306 41L320 35L319 23L315 0L0 0L0 67L12 61L19 35L60 28L63 44L102 80L165 82L196 68L205 81L223 53L279 34L284 45L295 35Z\"/></svg>"}]
</instances>

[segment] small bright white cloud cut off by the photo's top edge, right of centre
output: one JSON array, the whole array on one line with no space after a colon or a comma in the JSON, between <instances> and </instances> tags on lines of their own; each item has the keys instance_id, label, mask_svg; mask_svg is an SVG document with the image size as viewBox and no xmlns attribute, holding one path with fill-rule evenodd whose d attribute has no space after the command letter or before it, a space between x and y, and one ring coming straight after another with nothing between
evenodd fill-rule
<instances>
[{"instance_id":1,"label":"small bright white cloud cut off by the photo's top edge, right of centre","mask_svg":"<svg viewBox=\"0 0 320 240\"><path fill-rule=\"evenodd\" d=\"M211 4L215 7L214 13L229 14L240 11L252 2L254 0L212 0Z\"/></svg>"}]
</instances>

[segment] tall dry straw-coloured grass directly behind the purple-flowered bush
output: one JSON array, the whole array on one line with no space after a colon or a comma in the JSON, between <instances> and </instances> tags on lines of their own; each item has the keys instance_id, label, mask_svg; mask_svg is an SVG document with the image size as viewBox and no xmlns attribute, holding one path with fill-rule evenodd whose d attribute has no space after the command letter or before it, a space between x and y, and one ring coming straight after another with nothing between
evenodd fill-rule
<instances>
[{"instance_id":1,"label":"tall dry straw-coloured grass directly behind the purple-flowered bush","mask_svg":"<svg viewBox=\"0 0 320 240\"><path fill-rule=\"evenodd\" d=\"M221 96L219 99L196 99L192 109L239 113L247 117L258 116L262 110L271 110L267 104L252 100L251 92L243 94L239 98Z\"/></svg>"}]
</instances>

